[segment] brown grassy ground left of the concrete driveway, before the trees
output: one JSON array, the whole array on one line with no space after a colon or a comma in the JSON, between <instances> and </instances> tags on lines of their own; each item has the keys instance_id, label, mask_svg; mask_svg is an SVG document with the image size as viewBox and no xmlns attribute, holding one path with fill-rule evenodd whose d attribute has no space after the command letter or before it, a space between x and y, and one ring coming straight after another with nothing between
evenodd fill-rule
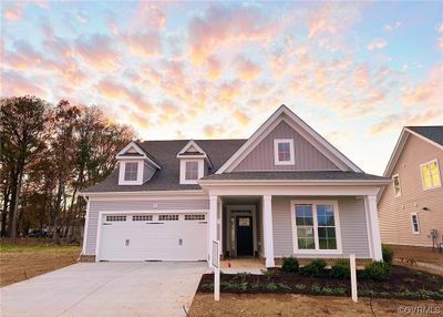
<instances>
[{"instance_id":1,"label":"brown grassy ground left of the concrete driveway, before the trees","mask_svg":"<svg viewBox=\"0 0 443 317\"><path fill-rule=\"evenodd\" d=\"M76 263L80 246L0 246L0 287Z\"/></svg>"}]
</instances>

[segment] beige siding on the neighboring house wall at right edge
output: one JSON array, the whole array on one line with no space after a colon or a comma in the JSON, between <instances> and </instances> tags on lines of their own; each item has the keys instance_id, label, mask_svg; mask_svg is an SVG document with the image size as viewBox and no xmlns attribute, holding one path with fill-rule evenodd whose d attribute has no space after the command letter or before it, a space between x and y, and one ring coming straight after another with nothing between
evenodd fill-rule
<instances>
[{"instance_id":1,"label":"beige siding on the neighboring house wall at right edge","mask_svg":"<svg viewBox=\"0 0 443 317\"><path fill-rule=\"evenodd\" d=\"M393 168L399 174L401 196L395 197L393 184L388 185L379 200L381 241L392 245L432 246L431 229L439 231L437 243L443 242L443 187L423 190L420 165L437 160L443 181L443 150L410 135ZM426 207L427 211L423 211ZM420 234L412 232L411 213L419 216Z\"/></svg>"}]
</instances>

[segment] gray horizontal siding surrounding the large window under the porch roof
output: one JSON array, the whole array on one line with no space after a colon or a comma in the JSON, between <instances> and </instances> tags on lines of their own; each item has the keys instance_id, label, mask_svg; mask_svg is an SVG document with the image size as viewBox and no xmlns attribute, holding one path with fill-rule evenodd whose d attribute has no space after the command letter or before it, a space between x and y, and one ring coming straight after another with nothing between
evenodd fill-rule
<instances>
[{"instance_id":1,"label":"gray horizontal siding surrounding the large window under the porch roof","mask_svg":"<svg viewBox=\"0 0 443 317\"><path fill-rule=\"evenodd\" d=\"M291 201L338 201L342 256L356 254L358 258L370 258L364 200L356 197L272 197L272 227L275 257L293 255ZM328 254L297 254L298 257L331 257ZM334 255L337 256L337 255Z\"/></svg>"}]
</instances>

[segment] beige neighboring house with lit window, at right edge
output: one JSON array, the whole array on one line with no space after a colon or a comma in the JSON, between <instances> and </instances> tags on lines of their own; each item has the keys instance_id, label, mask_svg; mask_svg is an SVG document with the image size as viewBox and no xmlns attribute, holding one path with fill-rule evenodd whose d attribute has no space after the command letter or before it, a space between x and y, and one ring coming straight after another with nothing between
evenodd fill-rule
<instances>
[{"instance_id":1,"label":"beige neighboring house with lit window, at right edge","mask_svg":"<svg viewBox=\"0 0 443 317\"><path fill-rule=\"evenodd\" d=\"M405 126L384 172L392 183L379 193L382 242L439 246L443 235L443 125Z\"/></svg>"}]
</instances>

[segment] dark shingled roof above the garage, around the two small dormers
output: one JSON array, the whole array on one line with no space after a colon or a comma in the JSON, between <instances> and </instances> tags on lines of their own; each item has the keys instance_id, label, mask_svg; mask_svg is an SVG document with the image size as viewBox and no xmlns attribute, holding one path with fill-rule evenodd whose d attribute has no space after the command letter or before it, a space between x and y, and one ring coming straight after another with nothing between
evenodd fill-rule
<instances>
[{"instance_id":1,"label":"dark shingled roof above the garage, around the two small dormers","mask_svg":"<svg viewBox=\"0 0 443 317\"><path fill-rule=\"evenodd\" d=\"M162 170L157 170L150 182L143 185L119 185L119 167L102 183L87 187L82 193L100 192L144 192L144 191L186 191L200 190L197 184L179 184L179 160L177 153L189 142L189 140L174 141L145 141L140 144L141 149L162 163ZM230 155L240 147L246 140L196 140L202 150L212 157L213 174L219 168Z\"/></svg>"}]
</instances>

